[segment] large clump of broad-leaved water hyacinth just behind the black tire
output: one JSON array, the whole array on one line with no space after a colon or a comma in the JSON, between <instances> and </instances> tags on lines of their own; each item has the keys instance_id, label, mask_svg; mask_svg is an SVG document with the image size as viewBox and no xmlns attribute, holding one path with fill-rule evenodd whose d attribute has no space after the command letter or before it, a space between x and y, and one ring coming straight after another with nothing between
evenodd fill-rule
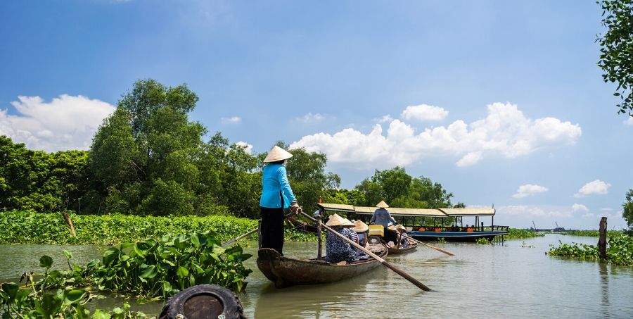
<instances>
[{"instance_id":1,"label":"large clump of broad-leaved water hyacinth just behind the black tire","mask_svg":"<svg viewBox=\"0 0 633 319\"><path fill-rule=\"evenodd\" d=\"M70 264L70 270L51 272L48 288L81 284L102 291L134 294L142 299L167 299L182 289L196 284L218 284L241 291L250 269L243 261L239 245L229 248L214 232L165 235L110 247L101 261L84 267Z\"/></svg>"}]
</instances>

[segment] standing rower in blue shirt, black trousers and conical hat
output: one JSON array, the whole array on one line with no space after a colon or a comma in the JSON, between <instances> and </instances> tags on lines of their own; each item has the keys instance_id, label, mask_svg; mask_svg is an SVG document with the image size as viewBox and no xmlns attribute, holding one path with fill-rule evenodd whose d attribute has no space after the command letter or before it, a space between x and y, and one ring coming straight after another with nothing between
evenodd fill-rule
<instances>
[{"instance_id":1,"label":"standing rower in blue shirt, black trousers and conical hat","mask_svg":"<svg viewBox=\"0 0 633 319\"><path fill-rule=\"evenodd\" d=\"M296 213L299 204L293 189L290 188L286 174L286 163L293 154L279 146L273 146L266 158L262 172L262 196L260 197L260 213L262 224L262 246L271 248L283 256L283 211L290 207Z\"/></svg>"}]
</instances>

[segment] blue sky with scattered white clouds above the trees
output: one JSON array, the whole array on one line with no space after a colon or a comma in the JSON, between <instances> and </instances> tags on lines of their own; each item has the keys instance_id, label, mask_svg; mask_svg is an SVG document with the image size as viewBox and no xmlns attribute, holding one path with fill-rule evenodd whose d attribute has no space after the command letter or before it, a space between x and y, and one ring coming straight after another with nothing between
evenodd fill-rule
<instances>
[{"instance_id":1,"label":"blue sky with scattered white clouds above the trees","mask_svg":"<svg viewBox=\"0 0 633 319\"><path fill-rule=\"evenodd\" d=\"M0 135L88 149L136 80L186 83L210 134L323 152L341 187L400 165L496 225L618 230L633 118L600 19L592 0L1 1Z\"/></svg>"}]
</instances>

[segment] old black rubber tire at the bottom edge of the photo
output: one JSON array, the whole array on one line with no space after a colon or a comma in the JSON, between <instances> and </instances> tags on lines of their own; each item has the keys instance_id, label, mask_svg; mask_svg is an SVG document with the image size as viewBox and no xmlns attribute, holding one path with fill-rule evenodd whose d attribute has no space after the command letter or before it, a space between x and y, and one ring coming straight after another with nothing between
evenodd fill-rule
<instances>
[{"instance_id":1,"label":"old black rubber tire at the bottom edge of the photo","mask_svg":"<svg viewBox=\"0 0 633 319\"><path fill-rule=\"evenodd\" d=\"M159 319L241 319L242 304L234 292L215 284L198 284L172 296Z\"/></svg>"}]
</instances>

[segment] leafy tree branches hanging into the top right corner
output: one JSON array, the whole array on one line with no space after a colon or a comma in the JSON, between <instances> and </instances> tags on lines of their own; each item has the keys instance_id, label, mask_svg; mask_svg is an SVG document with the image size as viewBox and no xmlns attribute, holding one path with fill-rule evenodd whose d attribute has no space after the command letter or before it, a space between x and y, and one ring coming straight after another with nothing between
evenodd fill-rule
<instances>
[{"instance_id":1,"label":"leafy tree branches hanging into the top right corner","mask_svg":"<svg viewBox=\"0 0 633 319\"><path fill-rule=\"evenodd\" d=\"M602 25L599 35L600 60L604 82L618 84L613 95L620 96L618 113L633 116L633 0L601 0Z\"/></svg>"}]
</instances>

